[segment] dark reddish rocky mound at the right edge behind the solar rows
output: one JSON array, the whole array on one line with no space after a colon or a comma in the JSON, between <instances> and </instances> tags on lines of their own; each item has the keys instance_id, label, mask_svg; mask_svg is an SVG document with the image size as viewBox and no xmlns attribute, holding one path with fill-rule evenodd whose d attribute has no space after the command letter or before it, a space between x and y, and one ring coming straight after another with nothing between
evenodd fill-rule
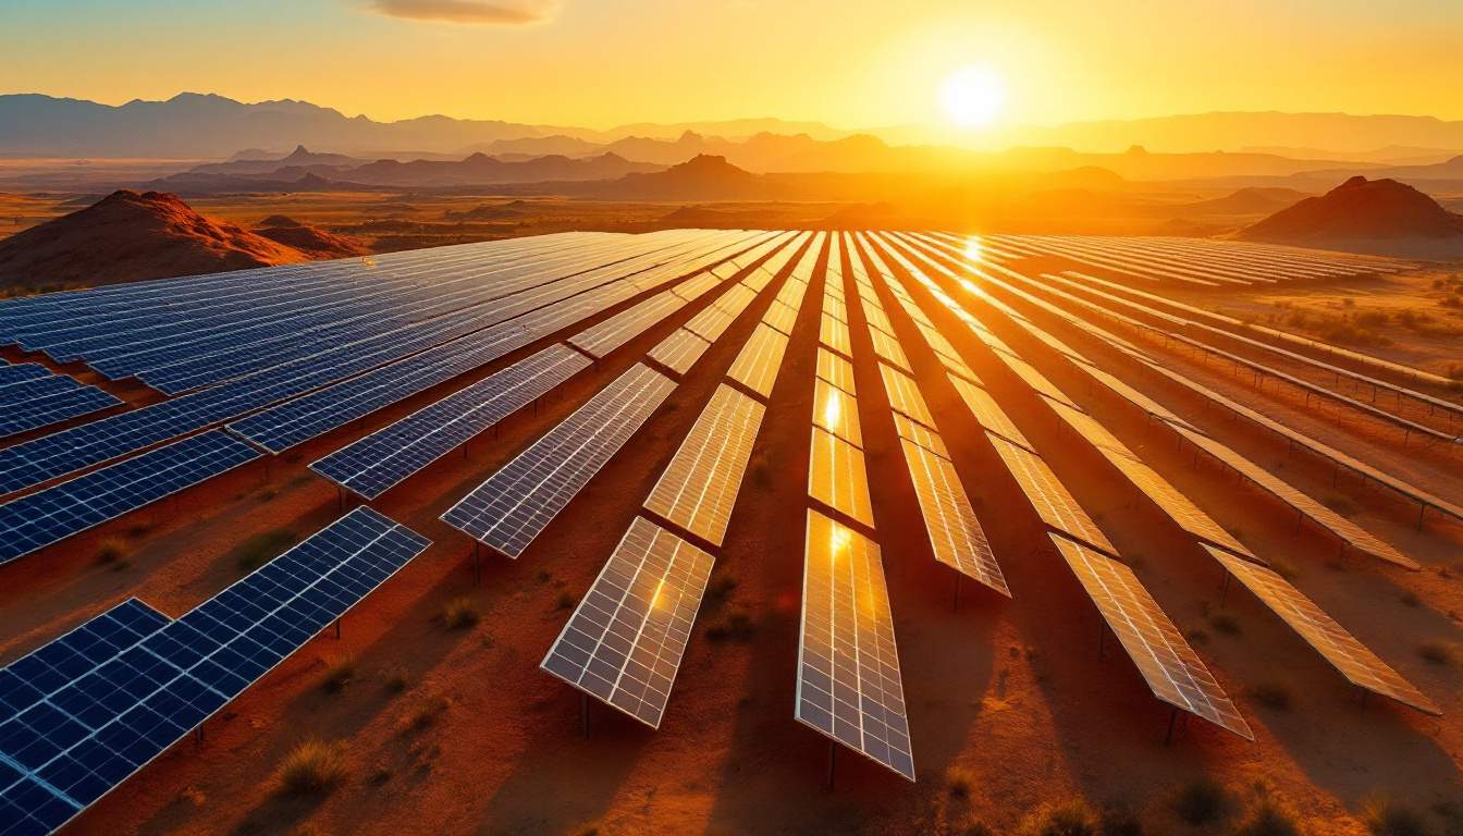
<instances>
[{"instance_id":1,"label":"dark reddish rocky mound at the right edge behind the solar rows","mask_svg":"<svg viewBox=\"0 0 1463 836\"><path fill-rule=\"evenodd\" d=\"M1463 239L1463 215L1404 183L1358 176L1320 198L1280 209L1239 237L1282 243Z\"/></svg>"}]
</instances>

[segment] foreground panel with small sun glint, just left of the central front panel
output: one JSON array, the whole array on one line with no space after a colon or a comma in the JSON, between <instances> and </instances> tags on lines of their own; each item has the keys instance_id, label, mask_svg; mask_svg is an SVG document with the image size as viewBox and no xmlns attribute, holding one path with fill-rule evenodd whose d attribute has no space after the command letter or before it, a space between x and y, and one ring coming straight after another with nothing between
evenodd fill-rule
<instances>
[{"instance_id":1,"label":"foreground panel with small sun glint, just left of the central front panel","mask_svg":"<svg viewBox=\"0 0 1463 836\"><path fill-rule=\"evenodd\" d=\"M711 564L636 517L540 668L658 729Z\"/></svg>"}]
</instances>

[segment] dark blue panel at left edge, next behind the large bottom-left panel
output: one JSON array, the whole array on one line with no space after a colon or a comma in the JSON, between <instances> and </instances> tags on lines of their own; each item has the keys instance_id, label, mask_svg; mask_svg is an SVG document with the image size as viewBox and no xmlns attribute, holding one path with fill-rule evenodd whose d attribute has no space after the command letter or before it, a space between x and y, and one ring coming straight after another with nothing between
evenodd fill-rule
<instances>
[{"instance_id":1,"label":"dark blue panel at left edge, next behind the large bottom-left panel","mask_svg":"<svg viewBox=\"0 0 1463 836\"><path fill-rule=\"evenodd\" d=\"M0 564L57 543L259 457L209 430L0 505Z\"/></svg>"}]
</instances>

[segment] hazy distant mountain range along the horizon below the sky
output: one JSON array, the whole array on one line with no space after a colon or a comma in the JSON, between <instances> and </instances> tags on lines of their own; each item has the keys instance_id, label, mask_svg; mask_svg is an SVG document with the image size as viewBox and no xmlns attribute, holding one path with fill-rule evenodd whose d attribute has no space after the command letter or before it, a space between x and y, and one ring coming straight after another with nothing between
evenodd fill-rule
<instances>
[{"instance_id":1,"label":"hazy distant mountain range along the horizon below the sky","mask_svg":"<svg viewBox=\"0 0 1463 836\"><path fill-rule=\"evenodd\" d=\"M693 154L669 158L664 143L685 143L688 135L691 142L702 145ZM228 160L243 148L263 157L309 145L372 158L399 157L402 152L455 157L483 152L500 158L512 154L591 157L612 152L638 163L674 164L695 154L727 155L727 149L715 142L755 145L759 135L802 136L809 143L854 139L856 143L878 141L914 146L929 142L929 130L916 126L853 132L816 122L778 119L635 123L595 130L446 116L376 122L306 101L246 104L193 92L167 101L133 100L123 105L41 94L0 95L0 154L15 157ZM632 139L636 142L629 142ZM1397 164L1438 161L1463 151L1463 122L1340 113L1207 113L1017 126L969 139L979 139L983 148L1059 146L1091 154L1115 154L1134 145L1163 154L1258 148L1282 151L1271 154L1274 157L1317 154L1314 158L1339 163ZM617 145L622 142L625 145ZM1409 152L1397 154L1397 148ZM1421 154L1410 152L1418 149Z\"/></svg>"}]
</instances>

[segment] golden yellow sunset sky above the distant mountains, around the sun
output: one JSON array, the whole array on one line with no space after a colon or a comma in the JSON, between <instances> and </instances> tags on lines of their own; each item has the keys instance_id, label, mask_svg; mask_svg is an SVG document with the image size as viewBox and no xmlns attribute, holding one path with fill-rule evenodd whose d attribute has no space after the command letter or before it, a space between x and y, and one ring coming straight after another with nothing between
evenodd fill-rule
<instances>
[{"instance_id":1,"label":"golden yellow sunset sky above the distant mountains, around the sun","mask_svg":"<svg viewBox=\"0 0 1463 836\"><path fill-rule=\"evenodd\" d=\"M1463 0L0 0L0 92L181 91L607 129L739 117L955 130L1213 110L1463 119Z\"/></svg>"}]
</instances>

